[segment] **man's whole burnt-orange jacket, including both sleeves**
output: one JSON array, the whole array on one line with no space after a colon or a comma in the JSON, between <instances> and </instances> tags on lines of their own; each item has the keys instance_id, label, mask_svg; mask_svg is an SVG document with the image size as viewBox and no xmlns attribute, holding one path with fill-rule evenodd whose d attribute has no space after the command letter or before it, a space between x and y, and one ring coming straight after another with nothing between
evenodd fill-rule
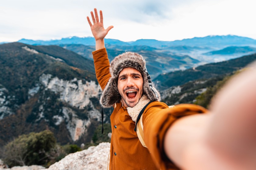
<instances>
[{"instance_id":1,"label":"man's whole burnt-orange jacket, including both sleeves","mask_svg":"<svg viewBox=\"0 0 256 170\"><path fill-rule=\"evenodd\" d=\"M92 52L95 72L102 89L110 78L109 60L106 49ZM179 169L165 155L163 139L170 125L179 117L206 112L197 105L176 105L169 108L163 102L150 103L143 113L144 141L148 148L140 143L134 131L135 122L122 103L116 107L110 116L112 137L110 148L110 170L155 170ZM171 144L170 144L171 145Z\"/></svg>"}]
</instances>

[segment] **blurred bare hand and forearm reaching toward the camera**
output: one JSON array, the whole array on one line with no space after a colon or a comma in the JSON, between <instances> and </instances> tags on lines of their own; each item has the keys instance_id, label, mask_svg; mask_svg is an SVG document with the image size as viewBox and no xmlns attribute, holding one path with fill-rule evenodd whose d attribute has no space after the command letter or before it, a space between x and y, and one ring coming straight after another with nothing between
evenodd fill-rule
<instances>
[{"instance_id":1,"label":"blurred bare hand and forearm reaching toward the camera","mask_svg":"<svg viewBox=\"0 0 256 170\"><path fill-rule=\"evenodd\" d=\"M181 169L255 169L255 64L222 88L211 113L180 118L169 128L165 153Z\"/></svg>"}]
</instances>

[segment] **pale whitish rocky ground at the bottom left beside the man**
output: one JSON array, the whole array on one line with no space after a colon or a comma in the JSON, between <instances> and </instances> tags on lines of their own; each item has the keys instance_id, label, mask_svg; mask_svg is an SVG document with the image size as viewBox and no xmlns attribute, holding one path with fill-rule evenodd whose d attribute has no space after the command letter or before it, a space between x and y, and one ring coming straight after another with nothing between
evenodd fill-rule
<instances>
[{"instance_id":1,"label":"pale whitish rocky ground at the bottom left beside the man","mask_svg":"<svg viewBox=\"0 0 256 170\"><path fill-rule=\"evenodd\" d=\"M105 170L108 166L110 143L103 142L86 150L72 153L51 165L48 169L42 166L16 166L7 168L0 160L0 170Z\"/></svg>"}]
</instances>

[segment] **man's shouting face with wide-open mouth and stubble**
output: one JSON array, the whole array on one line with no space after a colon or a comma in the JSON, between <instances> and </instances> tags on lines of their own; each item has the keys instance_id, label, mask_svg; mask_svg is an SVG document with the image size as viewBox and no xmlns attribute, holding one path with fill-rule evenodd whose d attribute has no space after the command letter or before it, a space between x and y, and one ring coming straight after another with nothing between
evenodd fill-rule
<instances>
[{"instance_id":1,"label":"man's shouting face with wide-open mouth and stubble","mask_svg":"<svg viewBox=\"0 0 256 170\"><path fill-rule=\"evenodd\" d=\"M118 91L125 107L134 107L143 94L143 77L135 68L124 68L118 77Z\"/></svg>"}]
</instances>

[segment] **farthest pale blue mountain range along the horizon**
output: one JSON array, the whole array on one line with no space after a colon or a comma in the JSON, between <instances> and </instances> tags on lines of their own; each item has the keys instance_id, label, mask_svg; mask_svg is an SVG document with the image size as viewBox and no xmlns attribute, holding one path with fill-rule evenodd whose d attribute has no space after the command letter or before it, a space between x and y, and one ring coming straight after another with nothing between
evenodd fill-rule
<instances>
[{"instance_id":1,"label":"farthest pale blue mountain range along the horizon","mask_svg":"<svg viewBox=\"0 0 256 170\"><path fill-rule=\"evenodd\" d=\"M60 40L27 40L21 39L18 42L30 44L30 45L59 45L59 44L83 44L83 45L95 45L93 37L68 37ZM133 46L133 45L146 45L155 48L165 48L168 46L198 46L198 47L217 47L224 48L227 46L256 46L256 40L247 37L240 37L236 35L210 35L206 37L194 37L183 40L175 41L158 41L155 39L139 39L135 42L123 42L116 39L105 39L105 43L109 45L122 45L122 46Z\"/></svg>"}]
</instances>

